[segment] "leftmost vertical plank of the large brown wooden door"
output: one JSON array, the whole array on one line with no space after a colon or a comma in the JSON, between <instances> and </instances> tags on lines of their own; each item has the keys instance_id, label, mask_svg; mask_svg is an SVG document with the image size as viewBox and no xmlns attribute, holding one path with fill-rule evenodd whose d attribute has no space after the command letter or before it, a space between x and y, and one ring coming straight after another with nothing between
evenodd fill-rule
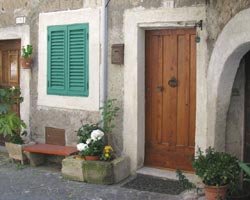
<instances>
[{"instance_id":1,"label":"leftmost vertical plank of the large brown wooden door","mask_svg":"<svg viewBox=\"0 0 250 200\"><path fill-rule=\"evenodd\" d=\"M162 119L162 93L158 92L157 86L162 85L162 41L155 35L148 34L148 52L146 77L146 105L149 108L146 121L146 136L148 142L158 143L161 137Z\"/></svg>"}]
</instances>

